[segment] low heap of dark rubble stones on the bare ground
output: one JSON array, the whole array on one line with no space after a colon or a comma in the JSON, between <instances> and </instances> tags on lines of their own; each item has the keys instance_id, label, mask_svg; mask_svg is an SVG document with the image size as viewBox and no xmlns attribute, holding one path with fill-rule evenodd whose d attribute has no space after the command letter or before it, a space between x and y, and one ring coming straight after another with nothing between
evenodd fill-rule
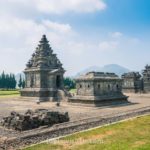
<instances>
[{"instance_id":1,"label":"low heap of dark rubble stones on the bare ground","mask_svg":"<svg viewBox=\"0 0 150 150\"><path fill-rule=\"evenodd\" d=\"M0 124L6 128L25 131L40 126L52 126L54 124L68 122L68 112L55 112L47 109L27 110L24 114L15 111L10 116L4 117Z\"/></svg>"}]
</instances>

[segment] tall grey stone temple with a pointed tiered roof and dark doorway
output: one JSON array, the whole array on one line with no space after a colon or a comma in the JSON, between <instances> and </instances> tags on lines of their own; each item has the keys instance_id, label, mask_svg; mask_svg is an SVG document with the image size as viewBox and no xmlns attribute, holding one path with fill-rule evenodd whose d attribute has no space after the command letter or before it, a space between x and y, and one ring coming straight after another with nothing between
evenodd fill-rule
<instances>
[{"instance_id":1,"label":"tall grey stone temple with a pointed tiered roof and dark doorway","mask_svg":"<svg viewBox=\"0 0 150 150\"><path fill-rule=\"evenodd\" d=\"M56 100L58 91L64 87L64 72L61 62L43 35L24 70L25 88L21 90L21 96L36 97L40 101Z\"/></svg>"}]
</instances>

